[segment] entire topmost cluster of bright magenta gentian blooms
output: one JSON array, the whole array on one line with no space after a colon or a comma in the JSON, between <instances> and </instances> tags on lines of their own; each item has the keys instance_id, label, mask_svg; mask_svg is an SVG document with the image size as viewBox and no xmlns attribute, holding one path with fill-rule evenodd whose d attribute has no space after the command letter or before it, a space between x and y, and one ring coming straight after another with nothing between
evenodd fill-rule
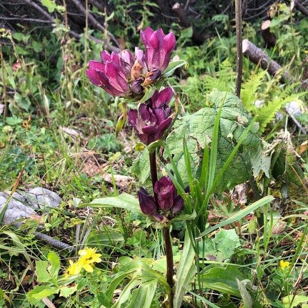
<instances>
[{"instance_id":1,"label":"entire topmost cluster of bright magenta gentian blooms","mask_svg":"<svg viewBox=\"0 0 308 308\"><path fill-rule=\"evenodd\" d=\"M147 27L140 32L145 53L136 47L109 54L102 51L100 61L90 61L86 71L90 82L113 96L128 97L141 94L144 87L157 80L167 68L171 52L176 47L174 33L165 35L162 29Z\"/></svg>"}]
</instances>

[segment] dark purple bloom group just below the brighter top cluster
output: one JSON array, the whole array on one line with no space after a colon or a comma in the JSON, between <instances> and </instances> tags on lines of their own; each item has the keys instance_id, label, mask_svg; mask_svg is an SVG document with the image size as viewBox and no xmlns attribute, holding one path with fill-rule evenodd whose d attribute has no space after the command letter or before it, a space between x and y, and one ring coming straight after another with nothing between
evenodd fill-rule
<instances>
[{"instance_id":1,"label":"dark purple bloom group just below the brighter top cluster","mask_svg":"<svg viewBox=\"0 0 308 308\"><path fill-rule=\"evenodd\" d=\"M128 121L136 130L139 139L150 144L163 137L164 131L170 126L172 119L168 103L172 98L171 88L154 92L146 104L141 104L139 110L128 111Z\"/></svg>"}]
</instances>

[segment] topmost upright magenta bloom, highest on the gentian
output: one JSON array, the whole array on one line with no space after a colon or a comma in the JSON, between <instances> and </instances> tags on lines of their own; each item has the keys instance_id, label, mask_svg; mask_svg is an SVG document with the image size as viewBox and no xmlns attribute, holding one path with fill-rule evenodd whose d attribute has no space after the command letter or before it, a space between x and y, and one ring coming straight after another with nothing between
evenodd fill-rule
<instances>
[{"instance_id":1,"label":"topmost upright magenta bloom, highest on the gentian","mask_svg":"<svg viewBox=\"0 0 308 308\"><path fill-rule=\"evenodd\" d=\"M176 47L176 37L170 32L164 34L160 28L153 31L150 27L140 31L141 41L145 46L145 62L148 69L163 72L170 61L171 52Z\"/></svg>"}]
</instances>

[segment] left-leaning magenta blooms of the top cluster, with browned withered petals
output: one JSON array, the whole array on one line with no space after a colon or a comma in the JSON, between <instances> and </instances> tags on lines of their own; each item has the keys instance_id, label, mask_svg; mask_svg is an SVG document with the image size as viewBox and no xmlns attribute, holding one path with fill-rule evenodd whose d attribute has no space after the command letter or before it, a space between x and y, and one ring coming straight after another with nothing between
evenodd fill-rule
<instances>
[{"instance_id":1,"label":"left-leaning magenta blooms of the top cluster, with browned withered petals","mask_svg":"<svg viewBox=\"0 0 308 308\"><path fill-rule=\"evenodd\" d=\"M127 97L131 92L142 92L141 76L147 73L147 66L141 49L136 48L134 55L128 49L111 54L103 50L101 58L102 62L89 62L86 75L92 84L113 96Z\"/></svg>"}]
</instances>

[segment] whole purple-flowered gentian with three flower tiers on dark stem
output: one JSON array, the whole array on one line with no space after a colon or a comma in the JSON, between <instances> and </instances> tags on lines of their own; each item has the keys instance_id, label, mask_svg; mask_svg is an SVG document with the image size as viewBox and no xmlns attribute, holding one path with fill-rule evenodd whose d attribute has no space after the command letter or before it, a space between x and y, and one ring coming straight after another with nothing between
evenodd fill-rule
<instances>
[{"instance_id":1,"label":"whole purple-flowered gentian with three flower tiers on dark stem","mask_svg":"<svg viewBox=\"0 0 308 308\"><path fill-rule=\"evenodd\" d=\"M145 52L138 47L134 54L127 49L111 54L103 50L102 61L90 61L86 75L95 86L103 88L110 95L123 98L123 114L117 129L121 129L126 120L126 104L136 102L136 108L127 113L128 122L140 141L149 146L163 138L172 122L172 110L169 106L173 96L172 89L159 88L167 76L186 62L180 60L169 66L171 53L176 47L174 33L165 35L162 29L153 31L148 27L141 31L140 36ZM171 290L169 302L172 305L174 269L168 222L183 210L184 201L177 194L170 177L158 180L156 146L149 153L149 161L153 195L141 187L138 198L142 213L163 226L167 258L166 278Z\"/></svg>"}]
</instances>

